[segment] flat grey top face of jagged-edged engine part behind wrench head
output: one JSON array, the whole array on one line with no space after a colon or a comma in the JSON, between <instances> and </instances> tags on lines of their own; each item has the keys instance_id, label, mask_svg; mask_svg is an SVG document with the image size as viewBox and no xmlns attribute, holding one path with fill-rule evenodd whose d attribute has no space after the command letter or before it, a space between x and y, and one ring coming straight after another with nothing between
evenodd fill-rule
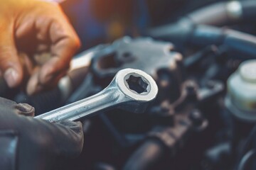
<instances>
[{"instance_id":1,"label":"flat grey top face of jagged-edged engine part behind wrench head","mask_svg":"<svg viewBox=\"0 0 256 170\"><path fill-rule=\"evenodd\" d=\"M121 69L132 68L155 77L159 69L178 69L182 60L171 42L124 37L94 53L92 72L100 78L113 77Z\"/></svg>"}]
</instances>

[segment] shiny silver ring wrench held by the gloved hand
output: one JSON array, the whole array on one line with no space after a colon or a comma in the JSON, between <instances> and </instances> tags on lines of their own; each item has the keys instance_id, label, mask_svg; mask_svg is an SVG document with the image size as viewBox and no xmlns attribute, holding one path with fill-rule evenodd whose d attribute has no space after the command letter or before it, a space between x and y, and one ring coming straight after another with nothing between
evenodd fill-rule
<instances>
[{"instance_id":1,"label":"shiny silver ring wrench held by the gloved hand","mask_svg":"<svg viewBox=\"0 0 256 170\"><path fill-rule=\"evenodd\" d=\"M49 120L52 123L78 120L112 107L141 113L148 103L156 98L157 92L156 82L149 74L139 69L122 69L117 72L110 85L98 94L35 118Z\"/></svg>"}]
</instances>

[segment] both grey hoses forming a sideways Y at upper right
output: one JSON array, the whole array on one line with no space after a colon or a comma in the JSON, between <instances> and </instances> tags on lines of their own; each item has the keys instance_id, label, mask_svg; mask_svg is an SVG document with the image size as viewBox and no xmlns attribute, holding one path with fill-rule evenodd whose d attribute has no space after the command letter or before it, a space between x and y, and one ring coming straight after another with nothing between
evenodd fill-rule
<instances>
[{"instance_id":1,"label":"both grey hoses forming a sideways Y at upper right","mask_svg":"<svg viewBox=\"0 0 256 170\"><path fill-rule=\"evenodd\" d=\"M240 18L234 18L228 14L227 6L232 3L238 5L237 8L241 8ZM198 9L174 24L152 28L145 35L174 42L179 50L183 50L189 45L206 47L223 44L227 45L230 52L233 51L236 55L238 52L239 55L255 56L255 36L215 27L225 26L227 23L235 21L250 21L255 16L256 1L217 3Z\"/></svg>"}]
</instances>

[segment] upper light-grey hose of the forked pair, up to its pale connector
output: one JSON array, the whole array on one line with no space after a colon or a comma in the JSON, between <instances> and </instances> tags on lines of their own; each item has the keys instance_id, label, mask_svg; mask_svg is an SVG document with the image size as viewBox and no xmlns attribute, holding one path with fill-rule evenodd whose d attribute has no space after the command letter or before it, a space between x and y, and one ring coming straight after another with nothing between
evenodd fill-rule
<instances>
[{"instance_id":1,"label":"upper light-grey hose of the forked pair, up to its pale connector","mask_svg":"<svg viewBox=\"0 0 256 170\"><path fill-rule=\"evenodd\" d=\"M196 25L218 26L220 23L226 23L229 20L227 12L225 11L226 4L227 3L222 2L200 8L179 19L176 23L151 28L147 30L146 33L142 33L142 35L176 42L176 45L182 46L189 38L189 35L193 32Z\"/></svg>"}]
</instances>

